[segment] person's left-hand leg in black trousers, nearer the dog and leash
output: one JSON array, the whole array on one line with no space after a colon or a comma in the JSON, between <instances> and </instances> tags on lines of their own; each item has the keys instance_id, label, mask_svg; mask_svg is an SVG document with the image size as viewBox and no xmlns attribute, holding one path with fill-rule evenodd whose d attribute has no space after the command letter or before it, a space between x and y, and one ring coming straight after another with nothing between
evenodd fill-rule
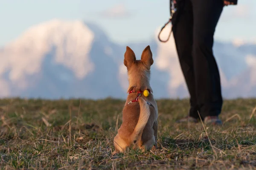
<instances>
[{"instance_id":1,"label":"person's left-hand leg in black trousers, nearer the dog and leash","mask_svg":"<svg viewBox=\"0 0 256 170\"><path fill-rule=\"evenodd\" d=\"M179 11L179 16L177 16L177 19L175 18L176 20L175 25L173 26L173 35L180 61L180 67L190 94L189 116L197 119L198 108L196 105L195 77L192 61L193 11L190 0L183 0L181 3L184 3L182 4L182 7L177 4L178 10L181 11ZM186 118L184 120L181 119L178 122L183 121L186 121Z\"/></svg>"}]
</instances>

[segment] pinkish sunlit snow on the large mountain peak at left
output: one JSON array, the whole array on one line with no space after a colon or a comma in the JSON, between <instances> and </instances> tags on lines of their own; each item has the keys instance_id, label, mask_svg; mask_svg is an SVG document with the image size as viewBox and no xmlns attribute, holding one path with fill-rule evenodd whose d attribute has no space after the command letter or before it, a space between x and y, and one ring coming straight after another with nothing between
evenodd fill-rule
<instances>
[{"instance_id":1,"label":"pinkish sunlit snow on the large mountain peak at left","mask_svg":"<svg viewBox=\"0 0 256 170\"><path fill-rule=\"evenodd\" d=\"M18 80L23 74L38 72L45 55L55 49L55 62L67 66L81 79L93 71L89 57L93 39L93 31L79 20L50 20L29 28L6 45L1 56L6 56L6 62L11 63L6 63L8 68L5 68L12 70L9 78Z\"/></svg>"}]
</instances>

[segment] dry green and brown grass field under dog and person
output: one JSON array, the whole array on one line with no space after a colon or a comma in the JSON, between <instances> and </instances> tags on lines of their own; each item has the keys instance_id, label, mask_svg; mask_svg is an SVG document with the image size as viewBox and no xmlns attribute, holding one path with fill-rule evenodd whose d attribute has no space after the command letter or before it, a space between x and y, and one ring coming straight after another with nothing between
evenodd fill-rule
<instances>
[{"instance_id":1,"label":"dry green and brown grass field under dog and person","mask_svg":"<svg viewBox=\"0 0 256 170\"><path fill-rule=\"evenodd\" d=\"M256 169L256 99L225 100L205 129L175 123L188 100L157 100L158 149L112 156L124 102L0 100L1 169Z\"/></svg>"}]
</instances>

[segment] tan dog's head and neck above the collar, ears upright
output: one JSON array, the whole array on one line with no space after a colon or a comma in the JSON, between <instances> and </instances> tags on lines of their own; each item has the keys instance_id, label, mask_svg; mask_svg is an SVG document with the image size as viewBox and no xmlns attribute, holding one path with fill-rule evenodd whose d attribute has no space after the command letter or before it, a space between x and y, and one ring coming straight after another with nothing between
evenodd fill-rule
<instances>
[{"instance_id":1,"label":"tan dog's head and neck above the collar, ears upright","mask_svg":"<svg viewBox=\"0 0 256 170\"><path fill-rule=\"evenodd\" d=\"M128 71L129 89L144 90L150 88L150 67L154 60L150 46L148 45L141 54L141 59L137 60L131 48L126 47L124 65Z\"/></svg>"}]
</instances>

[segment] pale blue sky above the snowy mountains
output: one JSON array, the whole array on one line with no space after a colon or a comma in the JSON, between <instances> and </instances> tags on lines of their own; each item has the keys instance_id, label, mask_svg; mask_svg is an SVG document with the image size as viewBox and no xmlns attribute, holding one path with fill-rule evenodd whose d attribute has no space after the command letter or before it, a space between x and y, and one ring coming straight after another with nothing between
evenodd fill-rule
<instances>
[{"instance_id":1,"label":"pale blue sky above the snowy mountains","mask_svg":"<svg viewBox=\"0 0 256 170\"><path fill-rule=\"evenodd\" d=\"M216 40L256 42L256 0L238 1L224 8ZM148 41L168 17L169 0L0 0L0 46L56 18L94 22L114 42Z\"/></svg>"}]
</instances>

